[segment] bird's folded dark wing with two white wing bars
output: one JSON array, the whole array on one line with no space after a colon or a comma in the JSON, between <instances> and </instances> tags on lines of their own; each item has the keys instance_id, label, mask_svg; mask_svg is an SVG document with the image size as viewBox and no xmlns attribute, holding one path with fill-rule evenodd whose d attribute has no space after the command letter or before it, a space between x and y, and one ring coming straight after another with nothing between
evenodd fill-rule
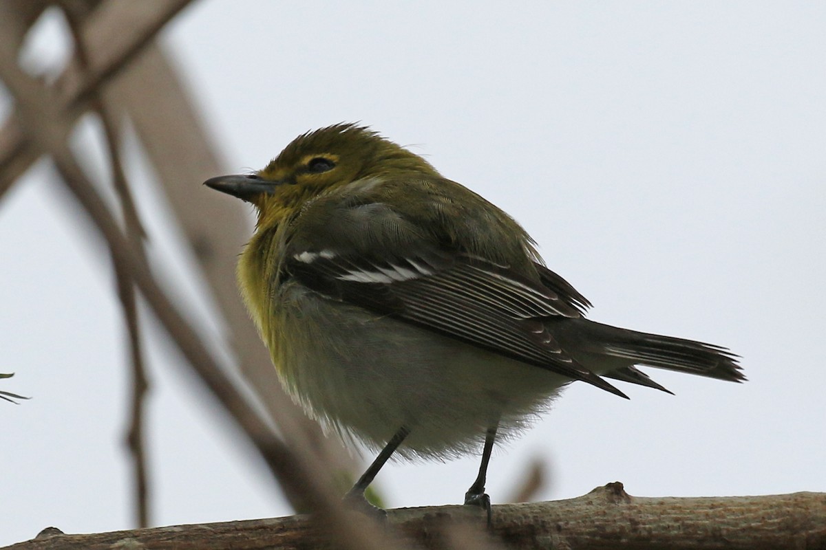
<instances>
[{"instance_id":1,"label":"bird's folded dark wing with two white wing bars","mask_svg":"<svg viewBox=\"0 0 826 550\"><path fill-rule=\"evenodd\" d=\"M347 223L339 210L335 227L332 223L326 226L329 231L319 226L311 241L301 235L291 239L283 264L285 275L330 299L395 317L624 397L567 355L542 321L581 316L580 305L587 300L570 284L544 268L537 280L531 280L510 266L446 247L426 232L400 232L400 224L406 223L404 217L380 206L373 204L371 215L356 224ZM348 236L349 232L354 233ZM400 233L404 242L398 242ZM366 241L369 246L363 244ZM349 247L348 242L359 244ZM540 280L556 284L549 288L552 285Z\"/></svg>"}]
</instances>

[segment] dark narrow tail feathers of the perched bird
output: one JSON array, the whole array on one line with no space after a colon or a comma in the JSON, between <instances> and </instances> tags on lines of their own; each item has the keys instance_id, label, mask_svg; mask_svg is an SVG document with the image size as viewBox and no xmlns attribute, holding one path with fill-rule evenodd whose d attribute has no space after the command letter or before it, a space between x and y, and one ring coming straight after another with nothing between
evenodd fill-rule
<instances>
[{"instance_id":1,"label":"dark narrow tail feathers of the perched bird","mask_svg":"<svg viewBox=\"0 0 826 550\"><path fill-rule=\"evenodd\" d=\"M713 344L611 327L586 319L566 319L553 331L563 349L596 374L662 389L635 364L743 382L738 355Z\"/></svg>"}]
</instances>

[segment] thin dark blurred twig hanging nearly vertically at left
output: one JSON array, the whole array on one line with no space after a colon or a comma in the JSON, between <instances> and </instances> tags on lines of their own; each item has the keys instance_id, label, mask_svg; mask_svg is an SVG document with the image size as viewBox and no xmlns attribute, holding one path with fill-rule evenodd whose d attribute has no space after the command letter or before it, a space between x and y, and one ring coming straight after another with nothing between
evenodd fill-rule
<instances>
[{"instance_id":1,"label":"thin dark blurred twig hanging nearly vertically at left","mask_svg":"<svg viewBox=\"0 0 826 550\"><path fill-rule=\"evenodd\" d=\"M81 71L88 71L89 58L83 33L80 25L88 15L88 4L86 2L64 1L64 12L69 20L69 28L75 45L75 59L78 61L78 68ZM128 238L135 249L140 251L144 260L146 258L142 240L145 238L145 231L140 223L135 201L132 199L129 186L126 183L126 173L121 162L121 143L119 131L116 125L116 118L112 110L107 107L103 96L94 94L90 101L90 106L97 113L101 120L103 132L106 138L107 153L109 155L110 166L112 167L112 186L115 188L118 200L121 203L121 214L126 228L126 238ZM115 270L117 280L117 295L121 300L124 322L126 323L126 334L129 341L129 356L131 364L131 400L130 400L130 421L126 430L126 444L132 458L132 472L135 479L135 521L138 527L149 527L149 472L146 467L146 452L144 446L144 405L146 394L149 392L149 381L146 378L144 367L143 350L140 346L140 323L138 322L138 308L135 297L135 285L132 283L129 272L125 266L116 261L112 254L112 266Z\"/></svg>"}]
</instances>

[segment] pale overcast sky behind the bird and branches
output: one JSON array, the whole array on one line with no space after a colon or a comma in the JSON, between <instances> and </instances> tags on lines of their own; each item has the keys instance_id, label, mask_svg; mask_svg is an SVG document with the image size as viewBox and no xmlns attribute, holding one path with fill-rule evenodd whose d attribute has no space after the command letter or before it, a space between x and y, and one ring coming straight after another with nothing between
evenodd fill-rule
<instances>
[{"instance_id":1,"label":"pale overcast sky behind the bird and branches","mask_svg":"<svg viewBox=\"0 0 826 550\"><path fill-rule=\"evenodd\" d=\"M542 499L826 491L824 28L824 2L205 0L162 40L228 172L360 120L519 220L591 318L743 356L743 385L654 371L676 395L626 401L574 384L497 450L496 503L534 458ZM139 153L130 172L154 252L175 254ZM0 389L33 397L0 402L0 545L132 526L121 316L77 219L45 163L0 202ZM147 324L154 523L288 514ZM459 503L476 469L395 463L377 482L393 506Z\"/></svg>"}]
</instances>

